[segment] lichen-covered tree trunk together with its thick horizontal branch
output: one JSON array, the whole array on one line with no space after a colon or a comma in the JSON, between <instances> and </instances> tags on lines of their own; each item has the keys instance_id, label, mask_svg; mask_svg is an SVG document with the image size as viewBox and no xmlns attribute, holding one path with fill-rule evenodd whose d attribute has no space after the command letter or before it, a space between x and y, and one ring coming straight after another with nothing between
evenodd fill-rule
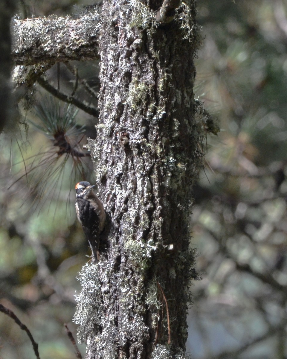
<instances>
[{"instance_id":1,"label":"lichen-covered tree trunk together with its thick horizontal branch","mask_svg":"<svg viewBox=\"0 0 287 359\"><path fill-rule=\"evenodd\" d=\"M193 95L194 1L104 0L78 17L14 29L14 60L28 66L19 68L18 85L55 61L100 57L89 148L108 246L80 274L75 320L86 358L184 356L196 277L188 216L208 127Z\"/></svg>"}]
</instances>

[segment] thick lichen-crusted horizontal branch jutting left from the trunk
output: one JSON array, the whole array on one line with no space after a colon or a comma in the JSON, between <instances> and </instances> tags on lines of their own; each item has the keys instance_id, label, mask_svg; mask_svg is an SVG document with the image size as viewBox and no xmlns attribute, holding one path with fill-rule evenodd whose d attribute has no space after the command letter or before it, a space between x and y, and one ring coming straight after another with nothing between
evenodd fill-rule
<instances>
[{"instance_id":1,"label":"thick lichen-crusted horizontal branch jutting left from the trunk","mask_svg":"<svg viewBox=\"0 0 287 359\"><path fill-rule=\"evenodd\" d=\"M91 60L98 57L100 12L89 6L74 17L13 20L12 56L15 65Z\"/></svg>"}]
</instances>

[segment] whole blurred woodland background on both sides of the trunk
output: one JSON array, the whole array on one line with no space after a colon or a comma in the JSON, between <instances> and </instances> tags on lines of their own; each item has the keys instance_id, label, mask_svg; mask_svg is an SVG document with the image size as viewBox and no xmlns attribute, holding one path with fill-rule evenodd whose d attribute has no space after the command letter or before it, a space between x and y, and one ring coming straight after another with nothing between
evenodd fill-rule
<instances>
[{"instance_id":1,"label":"whole blurred woodland background on both sides of the trunk","mask_svg":"<svg viewBox=\"0 0 287 359\"><path fill-rule=\"evenodd\" d=\"M88 4L21 0L19 14L65 15L78 11L74 5ZM283 359L287 357L287 1L198 0L197 6L202 47L196 60L195 93L217 117L221 131L207 138L206 161L194 189L191 246L198 248L202 280L192 287L187 350L193 359ZM97 91L98 64L72 66L78 80L84 81L76 97L97 106L83 87L88 84ZM57 88L56 66L47 79ZM75 79L61 64L63 93L75 90ZM0 136L0 301L29 327L42 359L73 358L63 323L75 334L74 294L80 290L76 276L89 260L71 185L81 178L67 163L55 192L41 192L41 181L29 172L29 158L47 147L55 158L57 150L29 123L39 121L35 114L23 111L23 116L29 125L27 137L24 125L20 135L14 131ZM77 113L76 126L85 126L86 134L76 139L81 146L94 136L93 121L85 112ZM85 160L88 176L92 167ZM21 177L24 163L33 188L27 187L25 175ZM19 181L13 184L15 178ZM81 351L84 354L84 347ZM27 335L1 314L0 357L33 355Z\"/></svg>"}]
</instances>

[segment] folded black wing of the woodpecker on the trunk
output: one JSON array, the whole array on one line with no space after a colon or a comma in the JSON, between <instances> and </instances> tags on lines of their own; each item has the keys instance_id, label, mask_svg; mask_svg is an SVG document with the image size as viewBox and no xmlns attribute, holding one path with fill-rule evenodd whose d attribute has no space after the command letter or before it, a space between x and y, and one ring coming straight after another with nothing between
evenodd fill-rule
<instances>
[{"instance_id":1,"label":"folded black wing of the woodpecker on the trunk","mask_svg":"<svg viewBox=\"0 0 287 359\"><path fill-rule=\"evenodd\" d=\"M90 202L82 198L76 199L77 217L89 241L95 261L99 260L99 218Z\"/></svg>"}]
</instances>

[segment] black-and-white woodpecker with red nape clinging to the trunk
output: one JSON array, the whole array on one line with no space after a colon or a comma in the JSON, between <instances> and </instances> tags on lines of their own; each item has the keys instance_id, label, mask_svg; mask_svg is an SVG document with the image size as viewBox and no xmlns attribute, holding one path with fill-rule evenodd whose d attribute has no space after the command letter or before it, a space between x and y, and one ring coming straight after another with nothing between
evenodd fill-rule
<instances>
[{"instance_id":1,"label":"black-and-white woodpecker with red nape clinging to the trunk","mask_svg":"<svg viewBox=\"0 0 287 359\"><path fill-rule=\"evenodd\" d=\"M76 213L85 236L89 241L95 262L99 260L100 233L105 225L105 210L102 202L94 194L89 182L81 181L76 184Z\"/></svg>"}]
</instances>

